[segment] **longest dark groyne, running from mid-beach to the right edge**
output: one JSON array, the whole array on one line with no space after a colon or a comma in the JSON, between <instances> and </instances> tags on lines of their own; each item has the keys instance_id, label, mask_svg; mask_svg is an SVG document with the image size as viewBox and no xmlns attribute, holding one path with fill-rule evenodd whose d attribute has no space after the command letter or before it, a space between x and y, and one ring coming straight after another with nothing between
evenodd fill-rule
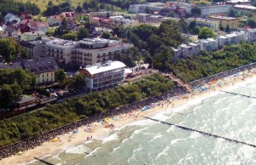
<instances>
[{"instance_id":1,"label":"longest dark groyne, running from mid-beach to the right edge","mask_svg":"<svg viewBox=\"0 0 256 165\"><path fill-rule=\"evenodd\" d=\"M219 136L217 134L210 134L210 133L206 133L206 132L203 132L203 131L200 131L200 130L196 130L196 129L193 129L193 128L186 128L186 127L183 127L183 126L180 126L180 125L177 125L177 124L173 124L171 122L164 122L164 121L160 121L158 119L154 119L154 118L151 118L151 117L144 117L144 118L148 118L149 120L153 120L155 122L161 122L161 123L164 123L164 124L167 124L167 125L170 125L170 126L176 126L177 128L182 128L182 129L185 129L185 130L188 130L188 131L195 131L197 133L204 134L204 135L207 135L207 136L212 136L214 138L226 139L226 140L228 140L230 142L235 142L235 143L242 144L242 145L249 145L249 146L252 146L252 147L256 148L256 145L249 144L249 143L246 143L246 142L243 142L243 141L239 141L239 140L236 140L236 139L225 138L225 137Z\"/></svg>"}]
</instances>

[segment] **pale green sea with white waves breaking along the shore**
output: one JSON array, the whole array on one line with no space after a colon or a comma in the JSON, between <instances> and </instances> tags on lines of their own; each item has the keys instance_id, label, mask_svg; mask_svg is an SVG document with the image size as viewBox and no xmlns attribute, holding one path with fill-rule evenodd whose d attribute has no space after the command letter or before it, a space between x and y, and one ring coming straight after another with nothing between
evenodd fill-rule
<instances>
[{"instance_id":1,"label":"pale green sea with white waves breaking along the shore","mask_svg":"<svg viewBox=\"0 0 256 165\"><path fill-rule=\"evenodd\" d=\"M256 96L255 82L249 80L229 91ZM217 91L207 98L166 109L153 118L256 145L253 98ZM256 148L145 119L44 160L81 165L256 164Z\"/></svg>"}]
</instances>

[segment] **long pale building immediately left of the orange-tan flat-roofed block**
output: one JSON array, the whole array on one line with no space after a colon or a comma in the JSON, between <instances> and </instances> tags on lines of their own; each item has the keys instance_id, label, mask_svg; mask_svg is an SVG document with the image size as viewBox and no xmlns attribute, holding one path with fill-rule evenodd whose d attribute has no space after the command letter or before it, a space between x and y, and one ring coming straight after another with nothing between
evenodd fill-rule
<instances>
[{"instance_id":1,"label":"long pale building immediately left of the orange-tan flat-roofed block","mask_svg":"<svg viewBox=\"0 0 256 165\"><path fill-rule=\"evenodd\" d=\"M185 19L185 22L189 25L190 22L194 21L196 22L196 26L207 26L208 28L212 29L213 31L218 31L219 30L219 21L215 20L207 20L207 19L194 19L194 18L189 18Z\"/></svg>"}]
</instances>

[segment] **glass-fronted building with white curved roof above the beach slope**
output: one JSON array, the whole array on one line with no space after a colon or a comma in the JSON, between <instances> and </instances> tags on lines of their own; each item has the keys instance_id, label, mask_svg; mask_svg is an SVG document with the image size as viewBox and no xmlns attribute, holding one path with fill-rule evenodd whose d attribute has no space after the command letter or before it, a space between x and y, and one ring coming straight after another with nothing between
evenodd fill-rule
<instances>
[{"instance_id":1,"label":"glass-fronted building with white curved roof above the beach slope","mask_svg":"<svg viewBox=\"0 0 256 165\"><path fill-rule=\"evenodd\" d=\"M79 71L86 78L86 86L90 91L113 87L125 80L125 64L120 61L111 61L96 64Z\"/></svg>"}]
</instances>

